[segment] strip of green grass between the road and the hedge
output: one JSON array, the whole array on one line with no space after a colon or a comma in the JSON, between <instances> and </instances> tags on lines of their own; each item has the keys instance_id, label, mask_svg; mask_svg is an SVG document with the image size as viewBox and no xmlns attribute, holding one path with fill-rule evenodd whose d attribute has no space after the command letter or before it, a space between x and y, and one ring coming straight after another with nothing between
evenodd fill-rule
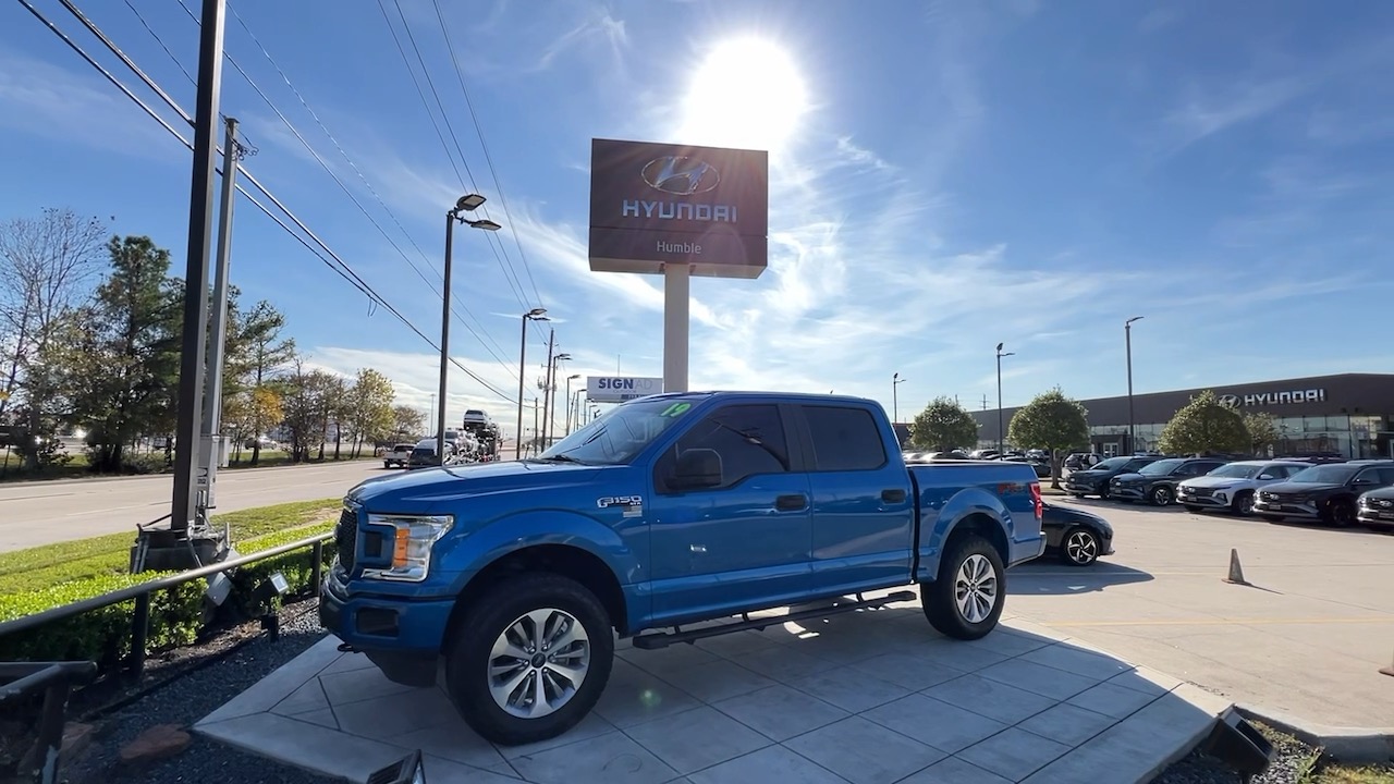
<instances>
[{"instance_id":1,"label":"strip of green grass between the road and the hedge","mask_svg":"<svg viewBox=\"0 0 1394 784\"><path fill-rule=\"evenodd\" d=\"M339 515L339 499L297 501L215 515L215 523L227 523L233 545L247 555L277 544L329 530ZM296 536L266 544L272 534L293 532ZM57 544L45 544L14 552L0 552L0 596L39 590L86 578L124 575L135 537L116 533Z\"/></svg>"}]
</instances>

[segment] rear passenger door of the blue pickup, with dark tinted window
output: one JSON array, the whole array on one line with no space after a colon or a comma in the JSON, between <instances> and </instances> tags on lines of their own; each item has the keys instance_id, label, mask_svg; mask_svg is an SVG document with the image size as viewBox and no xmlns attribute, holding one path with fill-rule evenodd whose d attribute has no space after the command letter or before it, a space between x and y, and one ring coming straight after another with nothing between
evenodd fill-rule
<instances>
[{"instance_id":1,"label":"rear passenger door of the blue pickup, with dark tinted window","mask_svg":"<svg viewBox=\"0 0 1394 784\"><path fill-rule=\"evenodd\" d=\"M895 586L910 573L914 495L866 407L800 405L811 455L813 590L842 594Z\"/></svg>"}]
</instances>

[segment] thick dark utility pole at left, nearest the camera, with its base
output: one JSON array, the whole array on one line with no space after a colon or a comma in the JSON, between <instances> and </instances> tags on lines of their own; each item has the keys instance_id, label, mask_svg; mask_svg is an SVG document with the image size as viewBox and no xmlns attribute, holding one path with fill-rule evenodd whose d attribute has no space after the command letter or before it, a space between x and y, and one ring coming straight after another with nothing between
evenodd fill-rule
<instances>
[{"instance_id":1,"label":"thick dark utility pole at left, nearest the camera, with its base","mask_svg":"<svg viewBox=\"0 0 1394 784\"><path fill-rule=\"evenodd\" d=\"M217 541L208 538L198 516L198 445L208 335L208 262L213 233L213 156L217 149L217 102L223 78L223 0L204 0L199 22L188 262L184 269L184 340L180 354L170 527L167 532L142 529L132 552L132 571L191 568L219 555Z\"/></svg>"}]
</instances>

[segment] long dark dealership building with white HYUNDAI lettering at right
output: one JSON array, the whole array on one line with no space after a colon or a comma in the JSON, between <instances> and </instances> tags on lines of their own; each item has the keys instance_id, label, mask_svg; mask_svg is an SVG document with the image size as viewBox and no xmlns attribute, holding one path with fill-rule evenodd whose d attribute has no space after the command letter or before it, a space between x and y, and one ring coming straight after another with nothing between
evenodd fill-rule
<instances>
[{"instance_id":1,"label":"long dark dealership building with white HYUNDAI lettering at right","mask_svg":"<svg viewBox=\"0 0 1394 784\"><path fill-rule=\"evenodd\" d=\"M1394 456L1394 375L1361 372L1174 392L1135 392L1133 445L1128 444L1126 395L1080 400L1087 412L1093 451L1124 455L1156 449L1161 428L1172 414L1204 389L1214 391L1241 412L1271 414L1281 434L1274 453L1335 452L1351 459ZM1009 425L1015 413L1016 409L1002 410L1002 423ZM997 409L972 414L981 425L980 445L995 445Z\"/></svg>"}]
</instances>

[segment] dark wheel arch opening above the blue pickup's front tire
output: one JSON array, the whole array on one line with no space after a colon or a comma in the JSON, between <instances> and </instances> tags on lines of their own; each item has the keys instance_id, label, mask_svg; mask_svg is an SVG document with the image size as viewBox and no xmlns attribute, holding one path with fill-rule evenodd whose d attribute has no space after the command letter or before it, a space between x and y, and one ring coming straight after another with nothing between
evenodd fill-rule
<instances>
[{"instance_id":1,"label":"dark wheel arch opening above the blue pickup's front tire","mask_svg":"<svg viewBox=\"0 0 1394 784\"><path fill-rule=\"evenodd\" d=\"M489 562L460 590L446 628L454 628L459 615L470 607L470 603L488 593L492 586L526 572L546 572L576 580L595 594L620 636L629 632L625 590L615 572L594 552L567 544L534 544Z\"/></svg>"}]
</instances>

